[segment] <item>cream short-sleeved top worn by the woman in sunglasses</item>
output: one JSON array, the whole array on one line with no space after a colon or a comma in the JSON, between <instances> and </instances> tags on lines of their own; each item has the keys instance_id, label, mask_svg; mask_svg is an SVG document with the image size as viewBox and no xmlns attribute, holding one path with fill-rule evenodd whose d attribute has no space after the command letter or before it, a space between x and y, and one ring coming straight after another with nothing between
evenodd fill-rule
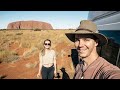
<instances>
[{"instance_id":1,"label":"cream short-sleeved top worn by the woman in sunglasses","mask_svg":"<svg viewBox=\"0 0 120 90\"><path fill-rule=\"evenodd\" d=\"M56 54L54 50L50 50L44 56L40 54L40 61L42 61L42 65L54 63L55 59L56 59Z\"/></svg>"}]
</instances>

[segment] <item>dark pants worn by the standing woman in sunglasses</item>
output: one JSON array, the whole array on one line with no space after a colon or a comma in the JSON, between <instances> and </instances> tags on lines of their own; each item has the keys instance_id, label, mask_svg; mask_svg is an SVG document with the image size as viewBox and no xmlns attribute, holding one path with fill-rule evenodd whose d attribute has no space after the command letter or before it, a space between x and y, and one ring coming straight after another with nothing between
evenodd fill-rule
<instances>
[{"instance_id":1,"label":"dark pants worn by the standing woman in sunglasses","mask_svg":"<svg viewBox=\"0 0 120 90\"><path fill-rule=\"evenodd\" d=\"M44 67L42 66L42 79L53 79L54 78L54 66Z\"/></svg>"}]
</instances>

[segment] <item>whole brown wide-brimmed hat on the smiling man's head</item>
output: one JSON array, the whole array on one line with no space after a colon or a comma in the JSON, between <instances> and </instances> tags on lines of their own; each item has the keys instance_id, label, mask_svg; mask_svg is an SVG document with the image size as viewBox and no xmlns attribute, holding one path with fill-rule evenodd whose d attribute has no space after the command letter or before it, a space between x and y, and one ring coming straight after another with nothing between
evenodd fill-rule
<instances>
[{"instance_id":1,"label":"whole brown wide-brimmed hat on the smiling man's head","mask_svg":"<svg viewBox=\"0 0 120 90\"><path fill-rule=\"evenodd\" d=\"M75 41L75 35L94 35L99 39L98 46L103 46L108 42L105 35L99 33L97 25L91 20L82 20L79 27L72 33L65 33L68 39L72 42Z\"/></svg>"}]
</instances>

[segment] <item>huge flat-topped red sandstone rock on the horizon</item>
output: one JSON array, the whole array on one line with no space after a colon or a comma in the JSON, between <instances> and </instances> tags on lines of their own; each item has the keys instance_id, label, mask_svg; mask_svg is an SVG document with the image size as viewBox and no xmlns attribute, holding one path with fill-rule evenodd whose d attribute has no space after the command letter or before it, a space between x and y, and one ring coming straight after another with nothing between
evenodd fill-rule
<instances>
[{"instance_id":1,"label":"huge flat-topped red sandstone rock on the horizon","mask_svg":"<svg viewBox=\"0 0 120 90\"><path fill-rule=\"evenodd\" d=\"M9 23L7 29L53 29L51 24L40 21L17 21Z\"/></svg>"}]
</instances>

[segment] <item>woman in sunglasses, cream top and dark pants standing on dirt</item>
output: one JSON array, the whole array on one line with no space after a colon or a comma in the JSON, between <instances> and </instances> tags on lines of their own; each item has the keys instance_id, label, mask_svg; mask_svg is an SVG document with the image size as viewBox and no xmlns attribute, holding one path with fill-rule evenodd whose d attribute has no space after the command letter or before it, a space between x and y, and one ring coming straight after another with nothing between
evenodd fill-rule
<instances>
[{"instance_id":1,"label":"woman in sunglasses, cream top and dark pants standing on dirt","mask_svg":"<svg viewBox=\"0 0 120 90\"><path fill-rule=\"evenodd\" d=\"M44 41L44 49L39 53L39 72L37 77L42 75L42 79L53 79L56 75L56 54L54 50L50 49L51 40Z\"/></svg>"}]
</instances>

